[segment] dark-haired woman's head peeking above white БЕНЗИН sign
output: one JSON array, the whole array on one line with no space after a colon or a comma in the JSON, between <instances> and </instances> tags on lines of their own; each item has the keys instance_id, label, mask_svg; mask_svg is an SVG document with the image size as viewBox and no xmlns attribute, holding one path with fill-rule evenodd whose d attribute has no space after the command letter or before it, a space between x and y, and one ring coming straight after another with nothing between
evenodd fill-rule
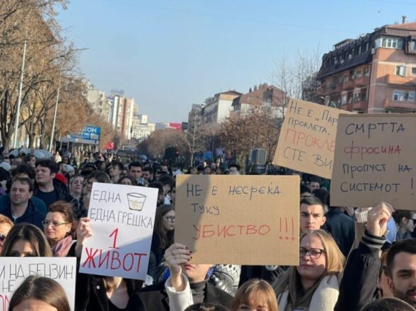
<instances>
[{"instance_id":1,"label":"dark-haired woman's head peeking above white \u0411\u0415\u041d\u0417\u0418\u041d sign","mask_svg":"<svg viewBox=\"0 0 416 311\"><path fill-rule=\"evenodd\" d=\"M3 242L1 257L52 257L43 232L33 224L18 223Z\"/></svg>"}]
</instances>

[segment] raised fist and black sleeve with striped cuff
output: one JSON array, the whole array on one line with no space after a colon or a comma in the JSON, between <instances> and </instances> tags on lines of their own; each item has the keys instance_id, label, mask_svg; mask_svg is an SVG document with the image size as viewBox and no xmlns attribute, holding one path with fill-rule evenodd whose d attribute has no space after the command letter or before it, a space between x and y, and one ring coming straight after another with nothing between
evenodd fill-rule
<instances>
[{"instance_id":1,"label":"raised fist and black sleeve with striped cuff","mask_svg":"<svg viewBox=\"0 0 416 311\"><path fill-rule=\"evenodd\" d=\"M393 207L384 202L368 212L366 231L358 247L348 256L334 311L361 310L374 299L381 247L386 241L387 221L392 213Z\"/></svg>"}]
</instances>

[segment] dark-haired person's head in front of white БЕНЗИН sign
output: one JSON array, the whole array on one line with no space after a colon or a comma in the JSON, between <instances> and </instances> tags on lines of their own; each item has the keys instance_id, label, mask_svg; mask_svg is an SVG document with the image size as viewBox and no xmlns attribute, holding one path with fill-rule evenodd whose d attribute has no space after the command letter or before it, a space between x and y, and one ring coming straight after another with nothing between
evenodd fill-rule
<instances>
[{"instance_id":1,"label":"dark-haired person's head in front of white \u0411\u0415\u041d\u0417\u0418\u041d sign","mask_svg":"<svg viewBox=\"0 0 416 311\"><path fill-rule=\"evenodd\" d=\"M9 311L70 311L65 290L58 282L28 276L10 298Z\"/></svg>"}]
</instances>

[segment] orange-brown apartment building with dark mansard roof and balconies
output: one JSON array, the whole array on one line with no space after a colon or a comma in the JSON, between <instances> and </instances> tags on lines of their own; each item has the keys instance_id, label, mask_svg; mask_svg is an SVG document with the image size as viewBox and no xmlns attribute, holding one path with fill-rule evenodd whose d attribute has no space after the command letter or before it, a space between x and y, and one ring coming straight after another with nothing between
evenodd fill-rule
<instances>
[{"instance_id":1,"label":"orange-brown apartment building with dark mansard roof and balconies","mask_svg":"<svg viewBox=\"0 0 416 311\"><path fill-rule=\"evenodd\" d=\"M416 22L384 25L324 54L318 95L358 113L416 112Z\"/></svg>"}]
</instances>

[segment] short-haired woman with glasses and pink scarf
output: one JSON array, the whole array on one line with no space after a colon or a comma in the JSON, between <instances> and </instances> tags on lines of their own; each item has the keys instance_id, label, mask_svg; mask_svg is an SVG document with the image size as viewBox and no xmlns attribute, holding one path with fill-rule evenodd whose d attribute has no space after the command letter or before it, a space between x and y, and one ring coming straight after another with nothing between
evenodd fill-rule
<instances>
[{"instance_id":1,"label":"short-haired woman with glasses and pink scarf","mask_svg":"<svg viewBox=\"0 0 416 311\"><path fill-rule=\"evenodd\" d=\"M49 205L46 219L42 222L44 233L54 257L66 257L74 243L72 204L57 201Z\"/></svg>"}]
</instances>

